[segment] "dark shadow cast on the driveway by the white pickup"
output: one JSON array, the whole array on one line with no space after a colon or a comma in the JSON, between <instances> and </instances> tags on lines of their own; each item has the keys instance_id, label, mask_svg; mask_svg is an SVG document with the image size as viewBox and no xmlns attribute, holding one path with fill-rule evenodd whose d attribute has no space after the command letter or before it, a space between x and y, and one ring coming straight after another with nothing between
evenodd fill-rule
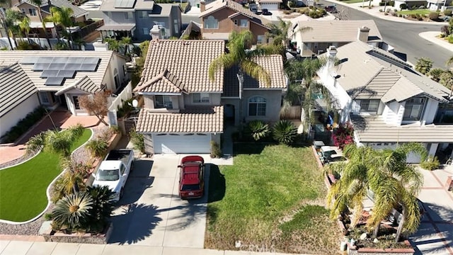
<instances>
[{"instance_id":1,"label":"dark shadow cast on the driveway by the white pickup","mask_svg":"<svg viewBox=\"0 0 453 255\"><path fill-rule=\"evenodd\" d=\"M125 185L124 196L118 201L117 206L129 205L137 202L143 192L150 188L154 182L154 177L149 176L153 161L151 160L135 160L134 167L130 172Z\"/></svg>"}]
</instances>

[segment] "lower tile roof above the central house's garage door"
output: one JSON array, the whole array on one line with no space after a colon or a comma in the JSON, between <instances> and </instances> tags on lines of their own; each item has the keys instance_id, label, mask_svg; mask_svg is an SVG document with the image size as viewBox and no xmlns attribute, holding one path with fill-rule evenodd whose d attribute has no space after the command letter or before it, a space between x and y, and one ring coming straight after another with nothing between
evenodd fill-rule
<instances>
[{"instance_id":1,"label":"lower tile roof above the central house's garage door","mask_svg":"<svg viewBox=\"0 0 453 255\"><path fill-rule=\"evenodd\" d=\"M224 108L186 108L180 113L151 113L142 109L139 113L137 132L223 132Z\"/></svg>"}]
</instances>

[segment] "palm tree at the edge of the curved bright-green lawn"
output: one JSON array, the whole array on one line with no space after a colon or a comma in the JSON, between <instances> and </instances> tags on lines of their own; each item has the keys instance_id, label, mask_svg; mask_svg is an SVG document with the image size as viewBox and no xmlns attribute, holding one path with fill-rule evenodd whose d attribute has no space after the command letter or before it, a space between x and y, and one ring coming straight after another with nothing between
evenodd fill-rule
<instances>
[{"instance_id":1,"label":"palm tree at the edge of the curved bright-green lawn","mask_svg":"<svg viewBox=\"0 0 453 255\"><path fill-rule=\"evenodd\" d=\"M62 164L64 162L71 162L71 145L81 137L84 133L84 127L82 125L74 125L63 132L59 130L47 130L41 132L34 137L31 137L27 142L27 153L38 152L40 149L44 149L48 152L54 152L59 154ZM71 166L73 164L68 164ZM73 172L74 168L69 167L69 171ZM79 191L77 183L73 183L74 193Z\"/></svg>"}]
</instances>

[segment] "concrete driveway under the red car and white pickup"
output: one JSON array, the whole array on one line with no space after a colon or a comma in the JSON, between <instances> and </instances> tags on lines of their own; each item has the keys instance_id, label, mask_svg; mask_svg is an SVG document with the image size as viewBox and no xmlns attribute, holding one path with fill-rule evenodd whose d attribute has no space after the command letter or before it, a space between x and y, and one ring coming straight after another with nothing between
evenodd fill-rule
<instances>
[{"instance_id":1,"label":"concrete driveway under the red car and white pickup","mask_svg":"<svg viewBox=\"0 0 453 255\"><path fill-rule=\"evenodd\" d=\"M165 155L134 162L125 196L114 211L110 244L203 248L210 165L205 171L205 196L178 198L177 166L183 155Z\"/></svg>"}]
</instances>

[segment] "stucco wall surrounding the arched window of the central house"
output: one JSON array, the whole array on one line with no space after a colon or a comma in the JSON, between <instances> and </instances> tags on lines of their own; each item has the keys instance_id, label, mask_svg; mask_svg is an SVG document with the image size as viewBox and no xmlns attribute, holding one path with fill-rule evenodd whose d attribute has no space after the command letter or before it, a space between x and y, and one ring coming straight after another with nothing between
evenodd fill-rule
<instances>
[{"instance_id":1,"label":"stucco wall surrounding the arched window of the central house","mask_svg":"<svg viewBox=\"0 0 453 255\"><path fill-rule=\"evenodd\" d=\"M248 115L248 99L253 96L262 96L266 99L265 116ZM282 106L282 91L279 90L244 90L243 91L243 116L246 121L263 120L265 122L275 122L280 120L280 107Z\"/></svg>"}]
</instances>

